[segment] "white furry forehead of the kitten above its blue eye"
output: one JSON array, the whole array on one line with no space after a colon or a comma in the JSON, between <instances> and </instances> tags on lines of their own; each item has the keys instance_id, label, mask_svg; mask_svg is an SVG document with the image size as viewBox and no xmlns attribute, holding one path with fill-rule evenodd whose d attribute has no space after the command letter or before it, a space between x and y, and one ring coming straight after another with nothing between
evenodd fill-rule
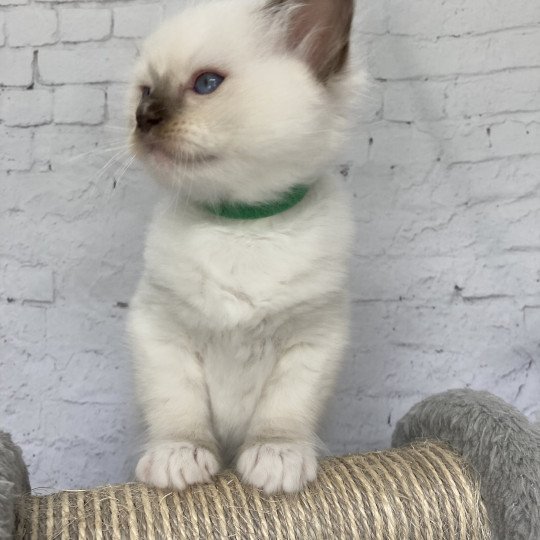
<instances>
[{"instance_id":1,"label":"white furry forehead of the kitten above its blue eye","mask_svg":"<svg viewBox=\"0 0 540 540\"><path fill-rule=\"evenodd\" d=\"M245 63L260 43L257 1L218 1L193 6L168 21L144 44L139 75L170 89L202 69ZM249 57L248 57L249 56Z\"/></svg>"}]
</instances>

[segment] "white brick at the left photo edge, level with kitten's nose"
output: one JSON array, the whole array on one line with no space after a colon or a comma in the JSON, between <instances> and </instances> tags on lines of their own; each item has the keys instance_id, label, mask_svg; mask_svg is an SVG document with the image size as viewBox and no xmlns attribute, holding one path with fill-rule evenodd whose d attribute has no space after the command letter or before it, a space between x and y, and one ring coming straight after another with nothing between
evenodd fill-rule
<instances>
[{"instance_id":1,"label":"white brick at the left photo edge, level with kitten's nose","mask_svg":"<svg viewBox=\"0 0 540 540\"><path fill-rule=\"evenodd\" d=\"M7 126L39 126L52 120L48 90L7 90L2 95L1 118Z\"/></svg>"}]
</instances>

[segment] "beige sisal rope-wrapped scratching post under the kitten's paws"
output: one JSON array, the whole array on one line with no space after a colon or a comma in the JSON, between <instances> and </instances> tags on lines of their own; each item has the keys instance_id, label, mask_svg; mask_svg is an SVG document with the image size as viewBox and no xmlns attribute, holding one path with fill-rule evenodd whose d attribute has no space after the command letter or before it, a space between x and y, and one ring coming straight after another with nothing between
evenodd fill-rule
<instances>
[{"instance_id":1,"label":"beige sisal rope-wrapped scratching post under the kitten's paws","mask_svg":"<svg viewBox=\"0 0 540 540\"><path fill-rule=\"evenodd\" d=\"M471 472L423 442L321 463L294 496L262 495L233 473L170 493L139 484L20 500L16 538L487 540Z\"/></svg>"}]
</instances>

